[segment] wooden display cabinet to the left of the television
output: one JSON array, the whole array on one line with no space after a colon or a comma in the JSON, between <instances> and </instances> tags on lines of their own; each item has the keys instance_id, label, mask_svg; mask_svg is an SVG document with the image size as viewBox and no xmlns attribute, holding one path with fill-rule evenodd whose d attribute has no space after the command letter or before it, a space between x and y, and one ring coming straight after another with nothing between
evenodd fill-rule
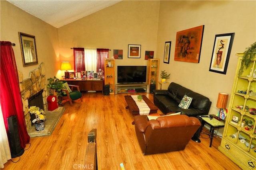
<instances>
[{"instance_id":1,"label":"wooden display cabinet to the left of the television","mask_svg":"<svg viewBox=\"0 0 256 170\"><path fill-rule=\"evenodd\" d=\"M115 92L115 59L105 59L104 81L109 84L110 94Z\"/></svg>"}]
</instances>

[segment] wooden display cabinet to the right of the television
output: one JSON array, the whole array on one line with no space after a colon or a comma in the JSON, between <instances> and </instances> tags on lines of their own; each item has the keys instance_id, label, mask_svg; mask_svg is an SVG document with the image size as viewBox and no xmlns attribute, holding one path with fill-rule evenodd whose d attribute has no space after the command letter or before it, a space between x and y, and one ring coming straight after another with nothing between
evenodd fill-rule
<instances>
[{"instance_id":1,"label":"wooden display cabinet to the right of the television","mask_svg":"<svg viewBox=\"0 0 256 170\"><path fill-rule=\"evenodd\" d=\"M158 71L159 71L159 59L148 59L148 66L147 66L147 79L148 85L156 84L156 89L158 86Z\"/></svg>"}]
</instances>

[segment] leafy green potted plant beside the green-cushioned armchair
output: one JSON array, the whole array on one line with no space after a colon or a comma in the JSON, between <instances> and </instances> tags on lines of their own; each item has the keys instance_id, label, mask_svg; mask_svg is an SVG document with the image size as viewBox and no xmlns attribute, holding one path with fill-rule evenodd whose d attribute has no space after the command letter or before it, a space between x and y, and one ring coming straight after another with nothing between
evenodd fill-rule
<instances>
[{"instance_id":1,"label":"leafy green potted plant beside the green-cushioned armchair","mask_svg":"<svg viewBox=\"0 0 256 170\"><path fill-rule=\"evenodd\" d=\"M54 78L48 78L47 88L50 89L50 95L56 96L58 103L61 103L63 82L56 76ZM55 94L54 94L55 93Z\"/></svg>"}]
</instances>

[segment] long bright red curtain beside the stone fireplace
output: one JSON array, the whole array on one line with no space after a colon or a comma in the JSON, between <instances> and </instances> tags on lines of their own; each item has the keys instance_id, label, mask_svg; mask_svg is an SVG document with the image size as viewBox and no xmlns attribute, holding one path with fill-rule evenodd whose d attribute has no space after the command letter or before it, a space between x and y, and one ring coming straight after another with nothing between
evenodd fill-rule
<instances>
[{"instance_id":1,"label":"long bright red curtain beside the stone fireplace","mask_svg":"<svg viewBox=\"0 0 256 170\"><path fill-rule=\"evenodd\" d=\"M11 42L1 41L0 57L0 103L4 117L4 125L8 134L7 117L16 115L20 135L20 146L24 149L26 144L29 143L30 137L24 119L18 71Z\"/></svg>"}]
</instances>

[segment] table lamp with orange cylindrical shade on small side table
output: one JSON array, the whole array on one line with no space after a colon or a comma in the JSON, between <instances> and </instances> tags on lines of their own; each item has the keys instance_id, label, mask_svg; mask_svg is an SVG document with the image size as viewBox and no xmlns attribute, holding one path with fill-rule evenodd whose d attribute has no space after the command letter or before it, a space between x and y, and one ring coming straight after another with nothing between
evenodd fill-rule
<instances>
[{"instance_id":1,"label":"table lamp with orange cylindrical shade on small side table","mask_svg":"<svg viewBox=\"0 0 256 170\"><path fill-rule=\"evenodd\" d=\"M217 105L216 105L218 108L220 108L220 111L217 113L217 116L219 117L219 119L224 120L227 115L227 111L226 111L227 101L228 101L228 94L220 92L217 100Z\"/></svg>"}]
</instances>

